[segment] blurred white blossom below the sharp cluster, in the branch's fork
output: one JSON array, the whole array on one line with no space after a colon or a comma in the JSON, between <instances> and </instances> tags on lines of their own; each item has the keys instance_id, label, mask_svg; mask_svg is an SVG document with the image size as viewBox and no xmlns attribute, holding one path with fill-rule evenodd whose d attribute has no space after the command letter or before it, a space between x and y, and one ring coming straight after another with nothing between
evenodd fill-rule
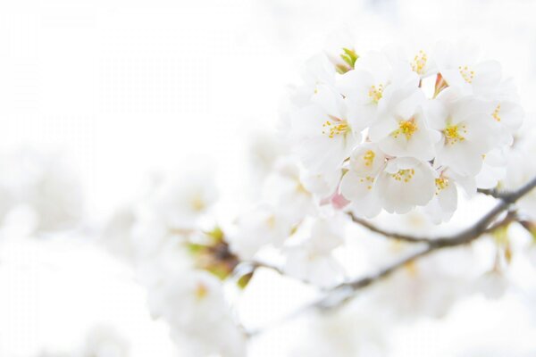
<instances>
[{"instance_id":1,"label":"blurred white blossom below the sharp cluster, in the branch's fork","mask_svg":"<svg viewBox=\"0 0 536 357\"><path fill-rule=\"evenodd\" d=\"M299 245L285 250L285 273L316 286L330 287L340 283L344 270L331 252L344 242L344 227L344 222L336 217L319 218L302 225L296 236L306 237Z\"/></svg>"}]
</instances>

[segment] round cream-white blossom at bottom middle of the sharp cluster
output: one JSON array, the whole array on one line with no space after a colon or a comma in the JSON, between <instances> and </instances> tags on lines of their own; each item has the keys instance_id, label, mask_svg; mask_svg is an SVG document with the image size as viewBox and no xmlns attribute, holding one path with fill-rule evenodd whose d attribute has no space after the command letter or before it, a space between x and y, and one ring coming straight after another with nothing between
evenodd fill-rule
<instances>
[{"instance_id":1,"label":"round cream-white blossom at bottom middle of the sharp cluster","mask_svg":"<svg viewBox=\"0 0 536 357\"><path fill-rule=\"evenodd\" d=\"M430 202L435 192L433 170L427 162L397 158L387 163L376 180L381 206L392 213L406 213Z\"/></svg>"}]
</instances>

